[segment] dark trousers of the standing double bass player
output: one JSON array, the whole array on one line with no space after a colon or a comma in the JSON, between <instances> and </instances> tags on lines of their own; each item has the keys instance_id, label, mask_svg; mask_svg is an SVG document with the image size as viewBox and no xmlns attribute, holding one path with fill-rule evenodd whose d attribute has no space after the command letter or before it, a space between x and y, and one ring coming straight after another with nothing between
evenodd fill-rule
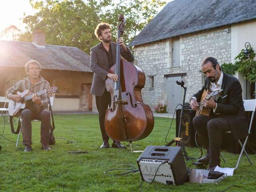
<instances>
[{"instance_id":1,"label":"dark trousers of the standing double bass player","mask_svg":"<svg viewBox=\"0 0 256 192\"><path fill-rule=\"evenodd\" d=\"M107 92L105 89L102 96L95 96L96 100L96 106L99 112L99 122L100 122L100 131L102 134L102 140L109 140L109 136L106 133L105 130L105 114L106 110L108 109L108 106L110 106L111 103L111 95L110 92Z\"/></svg>"}]
</instances>

